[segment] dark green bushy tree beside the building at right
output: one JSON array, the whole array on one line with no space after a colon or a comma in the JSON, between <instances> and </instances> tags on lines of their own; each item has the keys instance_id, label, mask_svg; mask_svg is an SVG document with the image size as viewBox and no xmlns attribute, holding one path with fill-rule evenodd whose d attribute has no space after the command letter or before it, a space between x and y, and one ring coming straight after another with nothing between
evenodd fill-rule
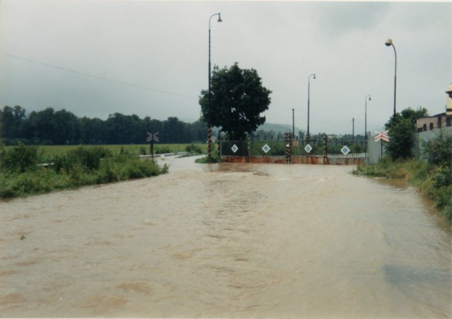
<instances>
[{"instance_id":1,"label":"dark green bushy tree beside the building at right","mask_svg":"<svg viewBox=\"0 0 452 319\"><path fill-rule=\"evenodd\" d=\"M385 124L386 129L389 130L389 143L386 150L393 160L413 156L416 120L426 116L429 116L429 112L424 107L418 107L418 110L408 107L401 113L391 116L389 122Z\"/></svg>"}]
</instances>

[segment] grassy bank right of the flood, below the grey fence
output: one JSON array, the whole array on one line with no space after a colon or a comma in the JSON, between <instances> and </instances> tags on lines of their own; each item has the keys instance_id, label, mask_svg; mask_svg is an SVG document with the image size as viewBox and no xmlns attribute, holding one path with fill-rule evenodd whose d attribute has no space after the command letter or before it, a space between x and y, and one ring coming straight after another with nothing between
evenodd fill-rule
<instances>
[{"instance_id":1,"label":"grassy bank right of the flood, below the grey fence","mask_svg":"<svg viewBox=\"0 0 452 319\"><path fill-rule=\"evenodd\" d=\"M435 203L446 220L452 223L451 165L433 165L418 159L391 161L383 158L376 165L359 165L353 174L386 178L404 178L420 194Z\"/></svg>"}]
</instances>

